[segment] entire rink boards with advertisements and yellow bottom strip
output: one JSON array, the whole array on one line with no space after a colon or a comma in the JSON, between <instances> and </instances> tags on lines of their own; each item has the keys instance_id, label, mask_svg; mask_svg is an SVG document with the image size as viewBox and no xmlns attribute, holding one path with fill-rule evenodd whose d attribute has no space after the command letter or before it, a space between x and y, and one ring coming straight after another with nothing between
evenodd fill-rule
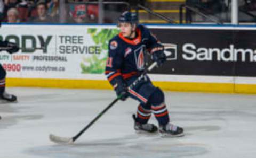
<instances>
[{"instance_id":1,"label":"entire rink boards with advertisements and yellow bottom strip","mask_svg":"<svg viewBox=\"0 0 256 158\"><path fill-rule=\"evenodd\" d=\"M163 67L150 73L155 85L170 91L256 93L256 28L148 27L171 54ZM114 25L3 24L0 39L22 48L12 56L0 54L6 84L111 89L103 73L107 41L117 32Z\"/></svg>"}]
</instances>

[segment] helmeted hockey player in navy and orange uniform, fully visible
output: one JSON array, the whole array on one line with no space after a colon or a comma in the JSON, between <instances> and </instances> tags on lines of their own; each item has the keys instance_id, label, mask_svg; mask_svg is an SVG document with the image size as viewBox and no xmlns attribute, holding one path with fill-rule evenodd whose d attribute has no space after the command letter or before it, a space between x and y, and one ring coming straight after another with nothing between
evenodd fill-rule
<instances>
[{"instance_id":1,"label":"helmeted hockey player in navy and orange uniform, fully visible","mask_svg":"<svg viewBox=\"0 0 256 158\"><path fill-rule=\"evenodd\" d=\"M132 89L128 89L145 69L146 50L149 50L158 66L165 62L163 45L147 28L138 25L135 13L124 12L118 19L118 27L121 32L109 41L105 74L117 96L122 96L121 100L131 97L140 102L137 116L133 115L134 129L150 133L158 130L161 136L182 136L183 128L169 121L163 91L155 87L147 75ZM154 124L148 124L151 113L157 119L159 129Z\"/></svg>"}]
</instances>

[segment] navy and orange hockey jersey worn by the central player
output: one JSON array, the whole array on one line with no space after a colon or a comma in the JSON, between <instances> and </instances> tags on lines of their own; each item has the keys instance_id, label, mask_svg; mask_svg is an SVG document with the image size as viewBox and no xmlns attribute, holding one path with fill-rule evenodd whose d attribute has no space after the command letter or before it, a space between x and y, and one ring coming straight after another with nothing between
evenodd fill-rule
<instances>
[{"instance_id":1,"label":"navy and orange hockey jersey worn by the central player","mask_svg":"<svg viewBox=\"0 0 256 158\"><path fill-rule=\"evenodd\" d=\"M112 85L115 85L115 78L126 80L141 73L145 69L146 50L158 43L142 25L138 25L136 32L134 39L127 39L119 33L109 41L105 74Z\"/></svg>"}]
</instances>

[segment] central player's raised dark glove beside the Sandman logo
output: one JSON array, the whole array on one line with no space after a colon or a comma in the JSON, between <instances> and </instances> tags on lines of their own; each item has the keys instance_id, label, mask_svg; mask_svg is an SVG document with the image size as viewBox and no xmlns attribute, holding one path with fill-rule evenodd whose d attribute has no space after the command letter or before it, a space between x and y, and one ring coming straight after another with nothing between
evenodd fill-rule
<instances>
[{"instance_id":1,"label":"central player's raised dark glove beside the Sandman logo","mask_svg":"<svg viewBox=\"0 0 256 158\"><path fill-rule=\"evenodd\" d=\"M157 66L162 66L166 61L166 55L164 54L164 47L155 47L151 50L151 58L154 62L157 62Z\"/></svg>"}]
</instances>

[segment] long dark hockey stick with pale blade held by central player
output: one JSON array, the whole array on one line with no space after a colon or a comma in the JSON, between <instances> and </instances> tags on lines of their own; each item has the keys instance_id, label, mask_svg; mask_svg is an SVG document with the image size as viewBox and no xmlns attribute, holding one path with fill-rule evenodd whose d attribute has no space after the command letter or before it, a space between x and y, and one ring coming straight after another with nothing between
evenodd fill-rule
<instances>
[{"instance_id":1,"label":"long dark hockey stick with pale blade held by central player","mask_svg":"<svg viewBox=\"0 0 256 158\"><path fill-rule=\"evenodd\" d=\"M137 80L135 80L130 86L129 89L132 89L147 73L147 71L151 71L151 69L153 69L155 66L157 65L157 62L154 62L153 64L151 64L146 71L144 71L140 77L137 78ZM60 136L56 136L53 134L49 135L49 138L52 142L55 143L74 143L76 141L76 139L81 136L85 130L87 130L89 127L91 127L91 125L94 124L95 121L97 121L108 109L110 109L119 99L122 98L122 95L119 95L114 101L112 101L103 111L101 111L99 113L98 116L96 116L87 126L85 126L81 131L79 131L79 133L77 135L75 135L74 137L60 137Z\"/></svg>"}]
</instances>

